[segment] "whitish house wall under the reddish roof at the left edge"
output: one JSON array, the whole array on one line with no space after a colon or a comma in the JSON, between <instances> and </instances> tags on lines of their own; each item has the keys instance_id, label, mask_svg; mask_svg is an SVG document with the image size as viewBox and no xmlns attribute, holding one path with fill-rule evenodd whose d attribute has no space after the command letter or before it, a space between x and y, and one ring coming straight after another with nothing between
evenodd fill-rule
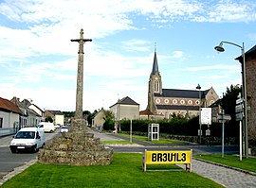
<instances>
[{"instance_id":1,"label":"whitish house wall under the reddish roof at the left edge","mask_svg":"<svg viewBox=\"0 0 256 188\"><path fill-rule=\"evenodd\" d=\"M14 124L19 125L18 113L0 111L0 117L3 118L2 128L14 128Z\"/></svg>"}]
</instances>

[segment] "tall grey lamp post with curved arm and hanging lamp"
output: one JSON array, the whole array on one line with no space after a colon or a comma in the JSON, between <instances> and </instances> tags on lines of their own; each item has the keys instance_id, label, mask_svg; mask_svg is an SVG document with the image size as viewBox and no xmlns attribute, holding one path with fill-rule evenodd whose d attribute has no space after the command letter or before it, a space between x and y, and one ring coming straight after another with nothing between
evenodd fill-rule
<instances>
[{"instance_id":1,"label":"tall grey lamp post with curved arm and hanging lamp","mask_svg":"<svg viewBox=\"0 0 256 188\"><path fill-rule=\"evenodd\" d=\"M246 56L245 56L245 45L244 43L241 45L238 45L236 43L230 43L230 42L221 42L218 46L215 46L214 49L218 52L224 52L225 49L223 47L223 43L229 43L231 45L235 45L239 48L241 48L241 53L243 57L242 62L242 82L243 82L243 96L244 96L244 135L245 135L245 154L248 158L248 137L247 137L247 73L246 73Z\"/></svg>"}]
</instances>

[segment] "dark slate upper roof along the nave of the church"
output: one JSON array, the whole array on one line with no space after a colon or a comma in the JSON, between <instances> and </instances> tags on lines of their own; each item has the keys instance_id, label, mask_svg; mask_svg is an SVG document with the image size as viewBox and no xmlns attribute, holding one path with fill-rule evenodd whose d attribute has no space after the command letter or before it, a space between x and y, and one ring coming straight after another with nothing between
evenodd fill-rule
<instances>
[{"instance_id":1,"label":"dark slate upper roof along the nave of the church","mask_svg":"<svg viewBox=\"0 0 256 188\"><path fill-rule=\"evenodd\" d=\"M178 90L178 89L163 89L162 94L154 94L160 97L178 97L178 98L199 98L199 91L197 90ZM202 98L209 92L209 90L201 91Z\"/></svg>"}]
</instances>

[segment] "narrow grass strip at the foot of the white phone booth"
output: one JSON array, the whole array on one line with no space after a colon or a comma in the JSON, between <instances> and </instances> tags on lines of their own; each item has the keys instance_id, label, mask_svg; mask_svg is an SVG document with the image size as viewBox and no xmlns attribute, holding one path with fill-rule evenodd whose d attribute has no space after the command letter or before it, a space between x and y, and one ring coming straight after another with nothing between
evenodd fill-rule
<instances>
[{"instance_id":1,"label":"narrow grass strip at the foot of the white phone booth","mask_svg":"<svg viewBox=\"0 0 256 188\"><path fill-rule=\"evenodd\" d=\"M122 136L124 138L130 138L129 134L119 133L119 136ZM163 139L163 138L159 138L158 141L149 141L149 139L147 137L137 136L137 135L133 135L133 139L148 142L148 143L152 143L152 144L155 144L155 145L176 145L176 144L180 145L180 144L186 144L187 143L187 142L184 142L184 141L170 140L170 139Z\"/></svg>"}]
</instances>

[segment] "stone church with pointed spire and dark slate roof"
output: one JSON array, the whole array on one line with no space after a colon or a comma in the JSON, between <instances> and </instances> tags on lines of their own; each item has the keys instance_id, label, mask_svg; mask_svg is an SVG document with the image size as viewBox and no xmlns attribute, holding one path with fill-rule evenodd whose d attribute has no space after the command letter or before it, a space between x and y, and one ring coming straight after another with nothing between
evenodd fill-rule
<instances>
[{"instance_id":1,"label":"stone church with pointed spire and dark slate roof","mask_svg":"<svg viewBox=\"0 0 256 188\"><path fill-rule=\"evenodd\" d=\"M153 68L149 77L148 106L146 111L141 112L151 118L165 119L172 118L172 116L187 118L198 116L200 104L201 108L206 108L219 98L212 87L205 91L200 91L200 86L198 89L163 89L155 50Z\"/></svg>"}]
</instances>

